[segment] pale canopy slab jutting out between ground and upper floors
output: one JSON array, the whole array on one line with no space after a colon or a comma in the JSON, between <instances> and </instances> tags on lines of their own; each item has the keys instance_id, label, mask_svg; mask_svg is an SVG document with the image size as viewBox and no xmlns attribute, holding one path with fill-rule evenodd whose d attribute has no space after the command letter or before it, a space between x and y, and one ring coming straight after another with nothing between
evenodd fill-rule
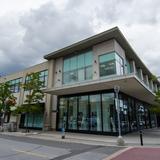
<instances>
[{"instance_id":1,"label":"pale canopy slab jutting out between ground and upper floors","mask_svg":"<svg viewBox=\"0 0 160 160\"><path fill-rule=\"evenodd\" d=\"M44 90L44 92L52 95L71 95L76 93L113 89L115 85L120 86L120 91L127 95L149 104L155 103L155 94L134 75L115 76L110 79L102 79L88 83L77 83L60 88L49 88Z\"/></svg>"}]
</instances>

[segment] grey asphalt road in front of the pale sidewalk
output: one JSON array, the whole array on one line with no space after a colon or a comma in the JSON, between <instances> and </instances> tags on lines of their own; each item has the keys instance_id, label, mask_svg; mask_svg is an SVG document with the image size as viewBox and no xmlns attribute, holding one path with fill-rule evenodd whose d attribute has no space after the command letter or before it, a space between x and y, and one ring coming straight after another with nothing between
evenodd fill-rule
<instances>
[{"instance_id":1,"label":"grey asphalt road in front of the pale sidewalk","mask_svg":"<svg viewBox=\"0 0 160 160\"><path fill-rule=\"evenodd\" d=\"M102 160L120 149L0 135L0 160Z\"/></svg>"}]
</instances>

